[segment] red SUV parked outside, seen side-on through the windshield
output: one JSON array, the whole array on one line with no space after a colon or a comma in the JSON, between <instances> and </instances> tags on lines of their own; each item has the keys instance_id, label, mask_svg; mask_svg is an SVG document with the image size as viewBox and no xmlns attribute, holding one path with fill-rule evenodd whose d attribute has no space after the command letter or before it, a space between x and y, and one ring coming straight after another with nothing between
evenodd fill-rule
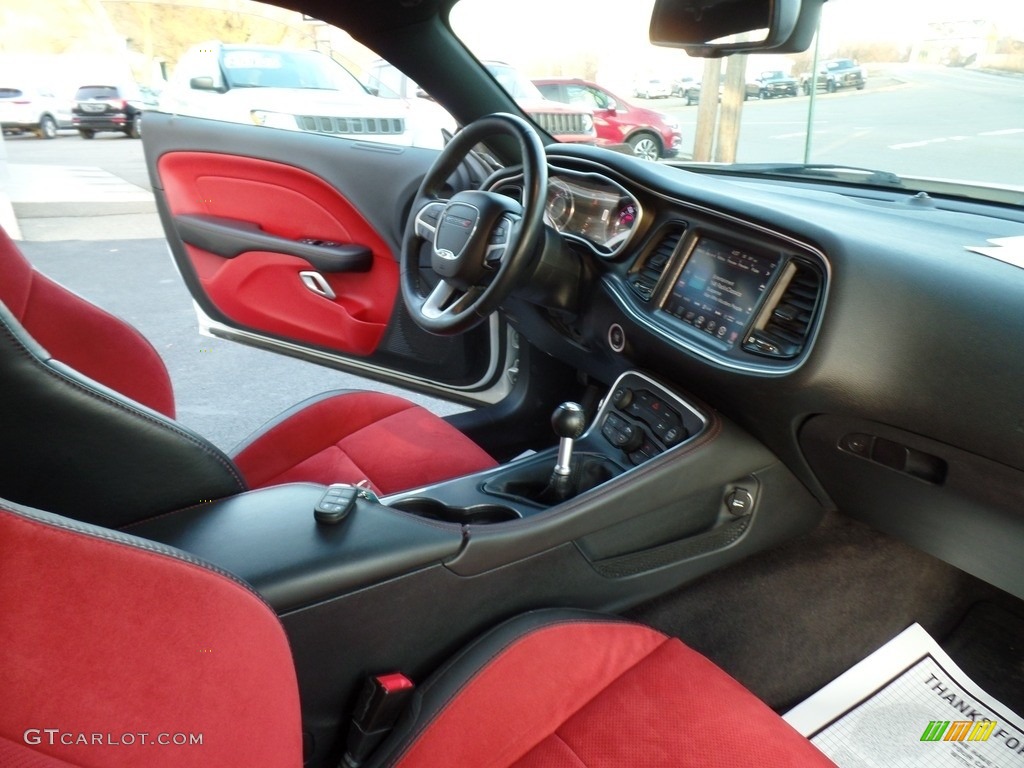
<instances>
[{"instance_id":1,"label":"red SUV parked outside, seen side-on through the windshield","mask_svg":"<svg viewBox=\"0 0 1024 768\"><path fill-rule=\"evenodd\" d=\"M546 98L594 111L599 144L629 144L645 160L672 158L683 137L679 124L668 115L631 104L606 88L579 78L535 80Z\"/></svg>"}]
</instances>

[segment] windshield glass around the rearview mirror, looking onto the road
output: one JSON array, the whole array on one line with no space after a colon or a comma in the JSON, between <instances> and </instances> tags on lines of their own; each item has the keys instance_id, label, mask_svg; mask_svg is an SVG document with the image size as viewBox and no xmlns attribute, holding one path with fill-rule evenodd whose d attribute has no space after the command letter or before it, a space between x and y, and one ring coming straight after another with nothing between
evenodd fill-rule
<instances>
[{"instance_id":1,"label":"windshield glass around the rearview mirror, looking onto the road","mask_svg":"<svg viewBox=\"0 0 1024 768\"><path fill-rule=\"evenodd\" d=\"M682 139L660 162L758 164L805 177L808 166L842 166L908 186L972 185L961 184L963 195L1024 191L1019 3L829 0L806 52L726 59L651 46L652 0L628 12L621 0L505 4L503 13L495 0L460 0L452 27L481 60L530 79L579 78L668 116ZM598 133L599 143L614 139Z\"/></svg>"}]
</instances>

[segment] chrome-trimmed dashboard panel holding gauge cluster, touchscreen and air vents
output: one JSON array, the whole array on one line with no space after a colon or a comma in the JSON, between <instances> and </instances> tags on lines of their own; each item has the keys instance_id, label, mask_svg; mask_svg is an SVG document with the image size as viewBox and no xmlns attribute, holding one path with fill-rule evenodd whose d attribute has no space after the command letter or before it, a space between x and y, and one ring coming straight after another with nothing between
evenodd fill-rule
<instances>
[{"instance_id":1,"label":"chrome-trimmed dashboard panel holding gauge cluster, touchscreen and air vents","mask_svg":"<svg viewBox=\"0 0 1024 768\"><path fill-rule=\"evenodd\" d=\"M519 198L521 176L492 188ZM709 362L780 375L817 333L828 260L808 243L696 206L667 205L607 175L551 168L545 221L600 264L616 303L646 333ZM622 325L608 329L624 351Z\"/></svg>"}]
</instances>

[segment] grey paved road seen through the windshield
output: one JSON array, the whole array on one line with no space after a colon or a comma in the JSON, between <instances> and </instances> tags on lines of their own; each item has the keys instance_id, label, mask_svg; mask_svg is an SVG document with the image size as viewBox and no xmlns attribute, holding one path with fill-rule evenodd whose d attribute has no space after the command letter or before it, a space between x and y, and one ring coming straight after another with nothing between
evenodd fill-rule
<instances>
[{"instance_id":1,"label":"grey paved road seen through the windshield","mask_svg":"<svg viewBox=\"0 0 1024 768\"><path fill-rule=\"evenodd\" d=\"M635 100L676 118L692 146L696 106ZM809 100L744 102L737 162L802 163ZM816 94L810 160L1024 185L1024 78L908 65L872 72L863 91Z\"/></svg>"}]
</instances>

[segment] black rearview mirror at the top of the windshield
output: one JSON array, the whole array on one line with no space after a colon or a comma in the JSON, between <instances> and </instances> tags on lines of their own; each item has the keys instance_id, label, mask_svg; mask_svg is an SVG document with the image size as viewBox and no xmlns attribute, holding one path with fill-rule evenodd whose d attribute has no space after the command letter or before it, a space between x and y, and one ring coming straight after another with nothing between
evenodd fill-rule
<instances>
[{"instance_id":1,"label":"black rearview mirror at the top of the windshield","mask_svg":"<svg viewBox=\"0 0 1024 768\"><path fill-rule=\"evenodd\" d=\"M824 0L655 0L654 45L684 48L691 56L806 50Z\"/></svg>"}]
</instances>

